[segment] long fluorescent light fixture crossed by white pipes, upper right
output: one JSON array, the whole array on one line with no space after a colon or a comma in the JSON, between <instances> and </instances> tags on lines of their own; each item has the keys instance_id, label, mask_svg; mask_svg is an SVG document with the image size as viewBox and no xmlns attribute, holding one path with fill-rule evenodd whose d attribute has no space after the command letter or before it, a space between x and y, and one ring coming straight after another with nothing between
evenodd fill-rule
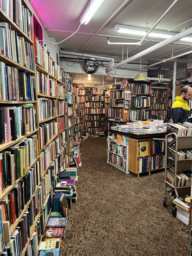
<instances>
[{"instance_id":1,"label":"long fluorescent light fixture crossed by white pipes, upper right","mask_svg":"<svg viewBox=\"0 0 192 256\"><path fill-rule=\"evenodd\" d=\"M119 33L132 34L137 36L145 36L146 34L145 28L138 28L138 27L132 27L132 26L116 25L114 27L114 30ZM161 30L153 30L153 32L149 33L148 36L166 39L166 38L171 38L175 34L177 33L166 32ZM192 37L184 37L180 40L192 42Z\"/></svg>"}]
</instances>

